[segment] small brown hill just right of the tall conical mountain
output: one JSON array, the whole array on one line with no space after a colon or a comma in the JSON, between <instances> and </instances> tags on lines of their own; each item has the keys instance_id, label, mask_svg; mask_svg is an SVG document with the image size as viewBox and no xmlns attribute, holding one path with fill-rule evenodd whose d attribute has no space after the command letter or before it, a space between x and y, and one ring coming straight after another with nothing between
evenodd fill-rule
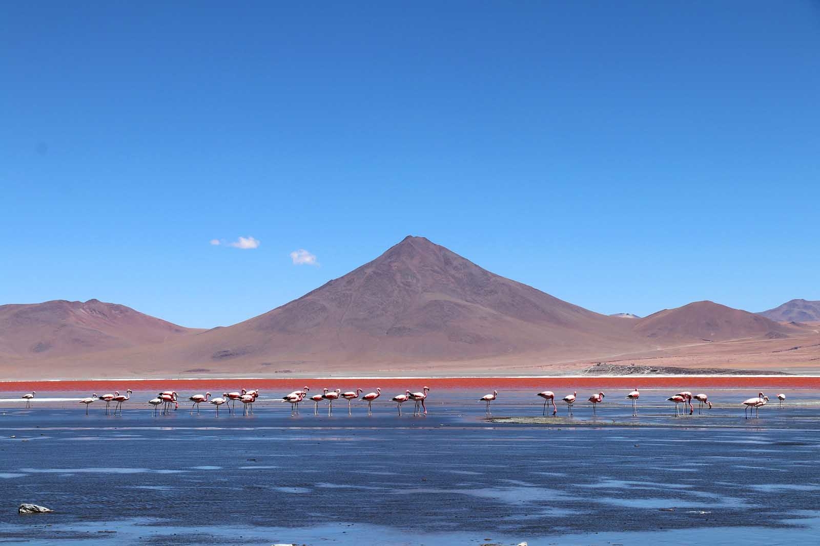
<instances>
[{"instance_id":1,"label":"small brown hill just right of the tall conical mountain","mask_svg":"<svg viewBox=\"0 0 820 546\"><path fill-rule=\"evenodd\" d=\"M695 301L641 318L635 323L635 332L658 345L671 346L698 341L776 339L789 336L795 329L748 311L712 301Z\"/></svg>"}]
</instances>

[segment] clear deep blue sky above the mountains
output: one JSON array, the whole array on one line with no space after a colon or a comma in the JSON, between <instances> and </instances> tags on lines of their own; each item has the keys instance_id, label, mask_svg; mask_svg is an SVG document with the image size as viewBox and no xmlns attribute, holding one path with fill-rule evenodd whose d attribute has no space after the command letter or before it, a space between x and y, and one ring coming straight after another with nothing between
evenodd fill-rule
<instances>
[{"instance_id":1,"label":"clear deep blue sky above the mountains","mask_svg":"<svg viewBox=\"0 0 820 546\"><path fill-rule=\"evenodd\" d=\"M408 234L607 314L820 300L818 2L170 4L0 7L0 303L225 325Z\"/></svg>"}]
</instances>

